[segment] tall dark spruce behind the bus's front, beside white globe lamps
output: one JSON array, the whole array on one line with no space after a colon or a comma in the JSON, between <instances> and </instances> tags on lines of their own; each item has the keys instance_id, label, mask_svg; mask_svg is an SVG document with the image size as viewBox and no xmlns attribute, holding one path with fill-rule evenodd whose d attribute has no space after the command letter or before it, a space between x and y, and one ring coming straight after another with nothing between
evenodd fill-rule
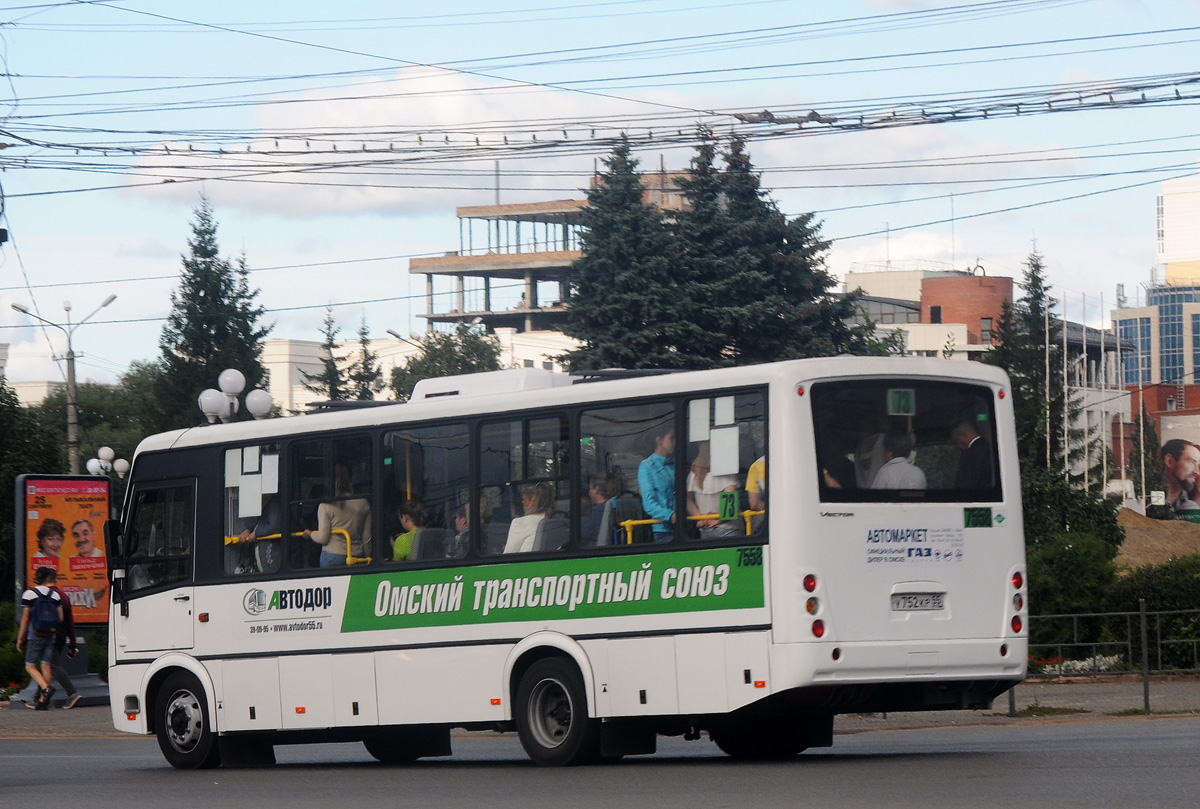
<instances>
[{"instance_id":1,"label":"tall dark spruce behind the bus's front, beside white globe lamps","mask_svg":"<svg viewBox=\"0 0 1200 809\"><path fill-rule=\"evenodd\" d=\"M182 257L179 288L170 294L170 313L158 340L157 367L149 373L154 406L146 419L152 431L193 426L199 419L197 398L215 388L226 368L246 374L246 386L264 384L262 341L270 326L260 325L263 307L250 288L245 257L236 264L221 258L217 223L209 200L194 211L188 253ZM242 413L241 418L250 418Z\"/></svg>"}]
</instances>

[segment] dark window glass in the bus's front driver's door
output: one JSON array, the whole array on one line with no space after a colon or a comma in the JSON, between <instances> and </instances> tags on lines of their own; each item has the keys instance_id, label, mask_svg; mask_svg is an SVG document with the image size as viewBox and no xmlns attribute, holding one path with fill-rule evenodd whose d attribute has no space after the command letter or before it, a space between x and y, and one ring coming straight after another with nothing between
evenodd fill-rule
<instances>
[{"instance_id":1,"label":"dark window glass in the bus's front driver's door","mask_svg":"<svg viewBox=\"0 0 1200 809\"><path fill-rule=\"evenodd\" d=\"M193 515L190 483L148 489L134 496L126 595L191 581Z\"/></svg>"}]
</instances>

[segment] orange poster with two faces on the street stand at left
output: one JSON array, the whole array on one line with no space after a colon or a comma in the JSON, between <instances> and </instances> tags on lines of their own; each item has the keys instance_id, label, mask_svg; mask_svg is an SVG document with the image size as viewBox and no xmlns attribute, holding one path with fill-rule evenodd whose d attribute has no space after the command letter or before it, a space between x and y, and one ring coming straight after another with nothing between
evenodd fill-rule
<instances>
[{"instance_id":1,"label":"orange poster with two faces on the street stand at left","mask_svg":"<svg viewBox=\"0 0 1200 809\"><path fill-rule=\"evenodd\" d=\"M54 568L77 624L108 622L108 563L104 520L107 478L20 475L17 478L17 591L34 586L38 568ZM22 519L24 515L24 519Z\"/></svg>"}]
</instances>

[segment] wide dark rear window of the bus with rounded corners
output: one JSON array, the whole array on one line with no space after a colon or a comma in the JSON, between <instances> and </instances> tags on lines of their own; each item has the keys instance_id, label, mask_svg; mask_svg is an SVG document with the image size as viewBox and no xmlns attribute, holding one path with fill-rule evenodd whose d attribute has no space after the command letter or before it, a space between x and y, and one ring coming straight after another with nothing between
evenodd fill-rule
<instances>
[{"instance_id":1,"label":"wide dark rear window of the bus with rounded corners","mask_svg":"<svg viewBox=\"0 0 1200 809\"><path fill-rule=\"evenodd\" d=\"M812 385L821 499L1001 499L988 388L913 379Z\"/></svg>"}]
</instances>

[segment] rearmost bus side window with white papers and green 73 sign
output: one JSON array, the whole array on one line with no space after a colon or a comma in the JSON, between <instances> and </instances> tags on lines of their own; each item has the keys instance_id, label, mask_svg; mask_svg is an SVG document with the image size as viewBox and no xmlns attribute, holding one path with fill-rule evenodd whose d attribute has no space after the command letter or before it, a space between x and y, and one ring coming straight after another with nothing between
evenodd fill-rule
<instances>
[{"instance_id":1,"label":"rearmost bus side window with white papers and green 73 sign","mask_svg":"<svg viewBox=\"0 0 1200 809\"><path fill-rule=\"evenodd\" d=\"M689 539L761 535L767 520L766 408L762 394L688 402Z\"/></svg>"}]
</instances>

